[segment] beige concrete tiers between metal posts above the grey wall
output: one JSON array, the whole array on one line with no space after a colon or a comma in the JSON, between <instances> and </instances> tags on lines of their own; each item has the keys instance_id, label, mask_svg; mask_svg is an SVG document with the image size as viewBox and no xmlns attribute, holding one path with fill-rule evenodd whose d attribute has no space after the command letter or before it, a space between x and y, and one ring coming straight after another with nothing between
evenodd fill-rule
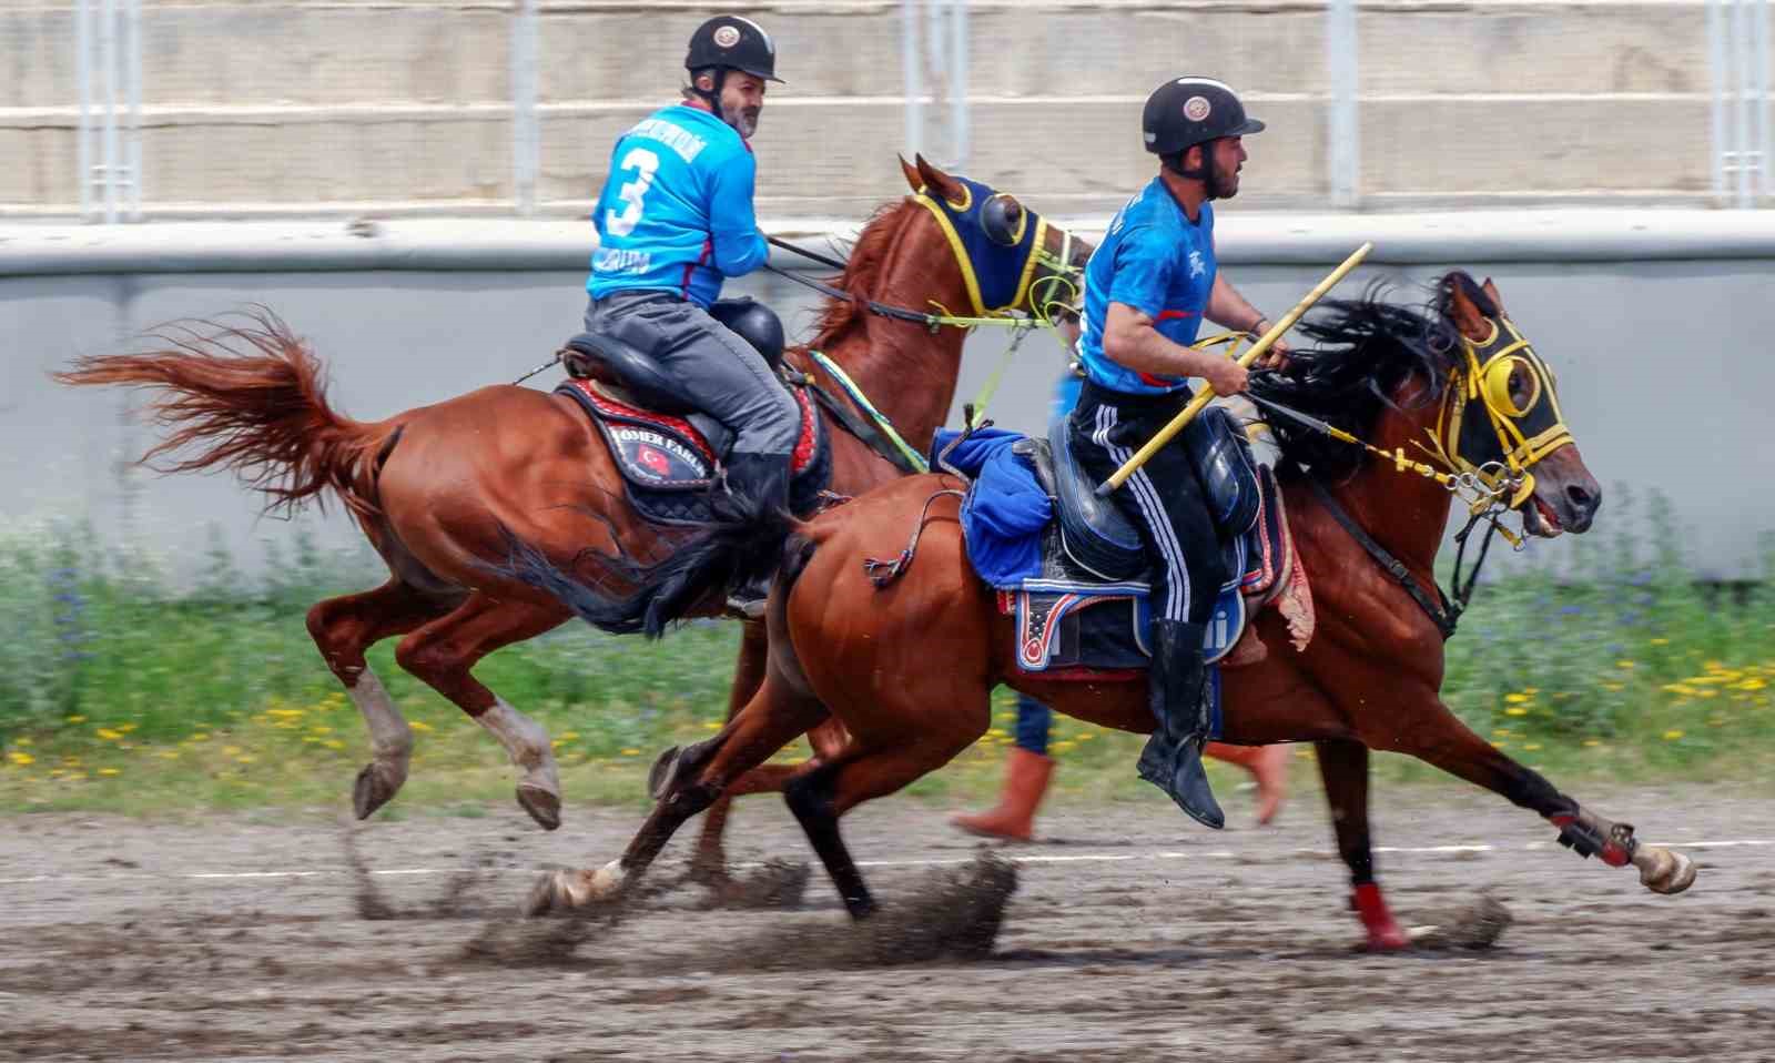
<instances>
[{"instance_id":1,"label":"beige concrete tiers between metal posts above the grey wall","mask_svg":"<svg viewBox=\"0 0 1775 1063\"><path fill-rule=\"evenodd\" d=\"M78 201L71 4L0 0L0 209ZM545 209L582 213L611 142L676 98L721 4L541 4ZM900 5L751 4L788 85L756 138L760 206L856 215L898 181ZM1246 202L1321 206L1324 12L1314 2L974 0L971 149L943 161L1049 204L1106 209L1148 169L1140 103L1191 67L1271 131ZM1360 16L1370 206L1697 199L1709 181L1699 0L1370 0ZM144 14L144 188L158 213L504 209L511 14L481 2L162 2ZM927 78L927 91L935 78ZM935 87L941 92L941 87Z\"/></svg>"}]
</instances>

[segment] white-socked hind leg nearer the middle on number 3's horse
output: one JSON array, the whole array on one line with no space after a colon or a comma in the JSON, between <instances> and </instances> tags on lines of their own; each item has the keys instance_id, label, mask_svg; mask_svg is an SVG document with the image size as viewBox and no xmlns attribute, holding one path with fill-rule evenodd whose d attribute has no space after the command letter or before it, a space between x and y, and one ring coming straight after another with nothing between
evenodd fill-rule
<instances>
[{"instance_id":1,"label":"white-socked hind leg nearer the middle on number 3's horse","mask_svg":"<svg viewBox=\"0 0 1775 1063\"><path fill-rule=\"evenodd\" d=\"M470 669L501 646L534 639L570 614L561 607L474 593L458 609L401 639L394 660L486 728L522 768L518 806L545 831L561 825L561 776L543 726L483 687Z\"/></svg>"}]
</instances>

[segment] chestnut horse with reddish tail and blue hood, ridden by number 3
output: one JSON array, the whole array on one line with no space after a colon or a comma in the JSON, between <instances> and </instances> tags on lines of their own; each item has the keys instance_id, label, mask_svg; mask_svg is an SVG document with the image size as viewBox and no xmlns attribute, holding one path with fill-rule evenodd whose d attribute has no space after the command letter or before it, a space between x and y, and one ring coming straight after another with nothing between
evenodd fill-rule
<instances>
[{"instance_id":1,"label":"chestnut horse with reddish tail and blue hood, ridden by number 3","mask_svg":"<svg viewBox=\"0 0 1775 1063\"><path fill-rule=\"evenodd\" d=\"M786 362L841 394L809 357L822 351L923 451L950 412L969 328L912 318L930 307L1035 311L1042 279L1077 275L1092 245L1014 197L923 158L900 160L900 167L914 195L884 206L863 227L836 284L840 295L827 298L813 341L790 350ZM1006 275L1012 284L999 286L1006 298L982 295L989 280ZM909 312L891 316L880 307ZM85 357L57 380L158 389L151 410L170 435L144 463L192 447L163 470L233 470L268 495L266 509L293 511L311 499L325 506L330 493L387 563L389 580L380 587L325 600L307 614L314 644L369 729L373 760L353 784L357 816L382 807L408 774L412 728L364 658L373 644L401 635L399 667L485 726L522 772L518 804L545 829L559 827L548 735L472 673L501 646L572 618L556 598L497 573L493 563L506 557L502 536L511 529L552 557L579 563L579 579L627 589L621 566L605 570L598 559L657 559L683 531L634 511L604 437L572 399L495 385L385 421L351 421L328 405L320 358L282 321L264 314L241 328L197 327L208 334L183 330L160 337L170 344L165 350ZM829 438L836 495L857 495L902 474L848 431ZM690 603L687 614L717 616L721 598ZM747 623L730 713L754 694L763 660L763 625ZM836 729L815 736L816 749L836 752L840 744ZM747 784L770 788L781 777L767 768ZM721 818L712 816L705 868L722 864L719 836Z\"/></svg>"}]
</instances>

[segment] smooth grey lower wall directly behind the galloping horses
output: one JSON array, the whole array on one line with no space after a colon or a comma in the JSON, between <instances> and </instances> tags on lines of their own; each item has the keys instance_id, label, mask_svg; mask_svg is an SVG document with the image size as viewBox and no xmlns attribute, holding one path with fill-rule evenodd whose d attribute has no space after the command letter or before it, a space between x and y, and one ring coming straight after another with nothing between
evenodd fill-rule
<instances>
[{"instance_id":1,"label":"smooth grey lower wall directly behind the galloping horses","mask_svg":"<svg viewBox=\"0 0 1775 1063\"><path fill-rule=\"evenodd\" d=\"M1464 224L1473 231L1500 231L1505 222ZM1571 428L1610 493L1598 536L1628 524L1621 520L1619 484L1638 497L1640 513L1656 490L1674 502L1686 529L1683 545L1699 568L1722 577L1754 573L1757 536L1775 531L1775 493L1766 490L1775 442L1764 428L1775 362L1757 355L1759 337L1775 330L1775 303L1766 298L1775 243L1764 241L1771 247L1764 257L1708 259L1684 250L1708 240L1695 245L1665 240L1660 256L1654 245L1631 243L1617 231L1612 243L1617 252L1608 257L1606 247L1578 220L1548 224L1569 234L1573 250L1566 254L1590 261L1551 259L1560 252L1557 238L1539 245L1498 238L1473 243L1461 264L1496 279L1516 321L1558 371ZM1457 243L1447 218L1399 225L1413 232L1440 229L1445 241ZM1285 240L1294 227L1317 232L1321 243ZM142 227L131 231L142 238ZM1384 259L1390 243L1379 234L1376 240ZM167 243L176 241L167 238ZM1299 298L1351 243L1335 220L1228 213L1221 232L1227 275L1258 305L1273 309ZM1725 238L1711 243L1715 250L1732 248ZM0 240L0 250L5 247ZM1429 247L1422 243L1418 250ZM1326 254L1333 248L1344 250ZM1425 280L1443 268L1425 257L1427 252L1411 252L1408 245L1408 254L1392 257L1395 264L1365 268L1344 291L1358 291L1372 277ZM12 261L21 261L18 252ZM275 268L275 261L298 259L263 257L261 266ZM520 261L541 268L513 268ZM504 268L481 272L5 277L0 270L0 525L18 531L51 515L91 515L108 539L128 536L176 573L201 566L204 529L217 525L243 564L259 566L261 541L282 543L288 554L289 525L257 520L254 499L227 477L162 479L130 470L126 460L154 438L130 421L130 399L59 389L46 373L80 353L128 346L131 334L156 323L259 302L312 341L332 371L332 396L348 413L382 417L511 380L545 360L577 330L582 279L559 256L534 252L527 259L511 252ZM733 289L770 300L792 330L806 319L799 312L808 307L806 293L786 282L747 280ZM971 341L958 401L983 383L1003 343L1001 334ZM992 417L1010 428L1038 429L1060 366L1060 353L1047 341L1026 344ZM556 378L550 373L534 383L550 387ZM335 547L355 541L337 515L304 516L300 527L318 529L321 541ZM1567 536L1537 543L1528 557L1562 566L1580 550L1594 557L1603 543L1596 536Z\"/></svg>"}]
</instances>

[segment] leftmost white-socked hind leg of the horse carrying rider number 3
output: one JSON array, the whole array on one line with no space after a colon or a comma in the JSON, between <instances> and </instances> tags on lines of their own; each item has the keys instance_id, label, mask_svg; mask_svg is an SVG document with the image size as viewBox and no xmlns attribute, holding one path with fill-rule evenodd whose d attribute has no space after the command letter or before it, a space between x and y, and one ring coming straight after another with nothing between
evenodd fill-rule
<instances>
[{"instance_id":1,"label":"leftmost white-socked hind leg of the horse carrying rider number 3","mask_svg":"<svg viewBox=\"0 0 1775 1063\"><path fill-rule=\"evenodd\" d=\"M414 754L414 729L369 669L364 653L382 639L405 635L437 619L451 607L396 579L375 591L328 598L309 609L309 635L327 667L344 683L369 729L371 760L351 786L351 811L359 820L369 818L399 793Z\"/></svg>"}]
</instances>

